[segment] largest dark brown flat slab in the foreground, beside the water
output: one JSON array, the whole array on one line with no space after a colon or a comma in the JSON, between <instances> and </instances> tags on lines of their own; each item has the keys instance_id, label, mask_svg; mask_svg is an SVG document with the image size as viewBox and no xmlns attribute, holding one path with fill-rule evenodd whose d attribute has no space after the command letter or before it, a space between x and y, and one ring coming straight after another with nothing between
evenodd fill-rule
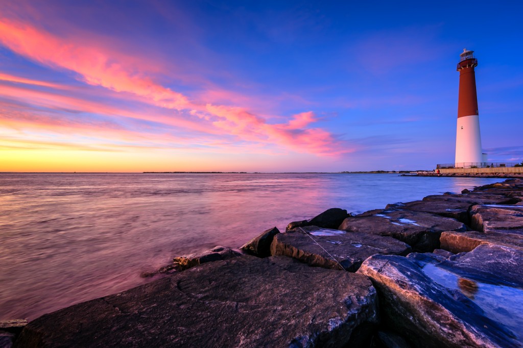
<instances>
[{"instance_id":1,"label":"largest dark brown flat slab in the foreground, beside the water","mask_svg":"<svg viewBox=\"0 0 523 348\"><path fill-rule=\"evenodd\" d=\"M361 274L241 256L43 315L17 346L343 347L376 297Z\"/></svg>"}]
</instances>

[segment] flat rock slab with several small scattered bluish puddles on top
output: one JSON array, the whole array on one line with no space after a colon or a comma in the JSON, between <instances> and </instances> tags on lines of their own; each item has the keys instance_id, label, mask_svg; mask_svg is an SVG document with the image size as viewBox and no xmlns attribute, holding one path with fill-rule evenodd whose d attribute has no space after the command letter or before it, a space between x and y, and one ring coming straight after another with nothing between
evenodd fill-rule
<instances>
[{"instance_id":1,"label":"flat rock slab with several small scattered bluish puddles on top","mask_svg":"<svg viewBox=\"0 0 523 348\"><path fill-rule=\"evenodd\" d=\"M415 251L433 251L439 248L442 231L465 231L467 226L452 218L407 210L371 211L346 218L339 229L393 237Z\"/></svg>"}]
</instances>

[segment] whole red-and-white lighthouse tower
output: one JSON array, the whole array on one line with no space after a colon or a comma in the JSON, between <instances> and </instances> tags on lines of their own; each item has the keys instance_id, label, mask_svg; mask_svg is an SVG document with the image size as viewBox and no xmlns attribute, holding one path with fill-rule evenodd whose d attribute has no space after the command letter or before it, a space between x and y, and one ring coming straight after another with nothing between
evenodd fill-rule
<instances>
[{"instance_id":1,"label":"whole red-and-white lighthouse tower","mask_svg":"<svg viewBox=\"0 0 523 348\"><path fill-rule=\"evenodd\" d=\"M463 49L458 63L459 99L458 127L456 130L456 167L480 166L482 159L480 117L477 112L476 77L477 59L474 51Z\"/></svg>"}]
</instances>

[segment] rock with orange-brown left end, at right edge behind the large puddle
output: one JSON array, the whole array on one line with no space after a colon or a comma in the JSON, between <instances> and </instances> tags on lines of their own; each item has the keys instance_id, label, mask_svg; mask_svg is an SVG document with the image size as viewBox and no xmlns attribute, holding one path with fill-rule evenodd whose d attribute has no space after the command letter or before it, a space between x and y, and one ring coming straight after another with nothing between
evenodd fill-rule
<instances>
[{"instance_id":1,"label":"rock with orange-brown left end, at right edge behind the large puddle","mask_svg":"<svg viewBox=\"0 0 523 348\"><path fill-rule=\"evenodd\" d=\"M439 238L441 249L453 253L469 252L482 244L502 245L514 249L523 250L523 235L477 231L456 232L445 231Z\"/></svg>"}]
</instances>

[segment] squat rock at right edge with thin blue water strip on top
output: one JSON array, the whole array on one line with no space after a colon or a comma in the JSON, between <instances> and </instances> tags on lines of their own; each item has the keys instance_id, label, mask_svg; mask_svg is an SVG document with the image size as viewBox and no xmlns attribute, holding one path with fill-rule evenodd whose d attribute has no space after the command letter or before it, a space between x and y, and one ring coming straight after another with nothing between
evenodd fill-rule
<instances>
[{"instance_id":1,"label":"squat rock at right edge with thin blue water strip on top","mask_svg":"<svg viewBox=\"0 0 523 348\"><path fill-rule=\"evenodd\" d=\"M470 214L475 230L523 235L523 205L474 205Z\"/></svg>"}]
</instances>

